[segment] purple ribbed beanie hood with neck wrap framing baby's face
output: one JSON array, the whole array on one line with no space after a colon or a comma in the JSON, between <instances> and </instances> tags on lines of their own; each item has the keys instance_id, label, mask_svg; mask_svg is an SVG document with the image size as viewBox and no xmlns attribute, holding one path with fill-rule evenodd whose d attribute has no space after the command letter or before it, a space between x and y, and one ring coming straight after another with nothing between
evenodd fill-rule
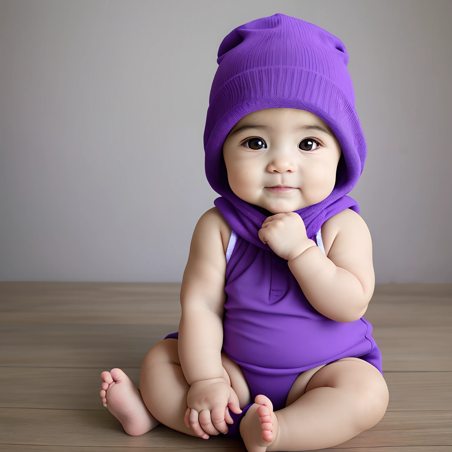
<instances>
[{"instance_id":1,"label":"purple ribbed beanie hood with neck wrap framing baby's face","mask_svg":"<svg viewBox=\"0 0 452 452\"><path fill-rule=\"evenodd\" d=\"M239 235L270 250L258 237L266 216L231 190L222 146L231 128L264 108L299 108L325 121L342 154L333 191L296 212L313 237L328 218L358 203L345 196L358 182L367 145L355 110L344 43L317 25L285 14L256 19L229 33L218 49L204 130L206 176L221 195L214 204Z\"/></svg>"}]
</instances>

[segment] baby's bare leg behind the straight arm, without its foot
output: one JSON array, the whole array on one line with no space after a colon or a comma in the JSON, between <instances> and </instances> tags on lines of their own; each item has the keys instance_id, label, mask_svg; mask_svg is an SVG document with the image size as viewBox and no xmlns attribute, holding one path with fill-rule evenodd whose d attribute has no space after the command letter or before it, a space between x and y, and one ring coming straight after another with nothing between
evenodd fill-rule
<instances>
[{"instance_id":1,"label":"baby's bare leg behind the straight arm, without its foot","mask_svg":"<svg viewBox=\"0 0 452 452\"><path fill-rule=\"evenodd\" d=\"M141 365L141 396L148 410L162 424L179 432L198 436L184 423L190 386L180 366L177 341L178 339L164 339L146 354ZM237 394L240 408L249 405L249 388L240 367L224 353L221 354L221 362L223 378Z\"/></svg>"}]
</instances>

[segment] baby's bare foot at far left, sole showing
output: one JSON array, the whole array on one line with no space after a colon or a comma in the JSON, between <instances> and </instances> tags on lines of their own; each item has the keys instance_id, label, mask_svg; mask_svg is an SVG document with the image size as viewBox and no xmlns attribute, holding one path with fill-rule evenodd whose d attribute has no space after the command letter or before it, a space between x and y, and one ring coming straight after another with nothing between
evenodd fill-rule
<instances>
[{"instance_id":1,"label":"baby's bare foot at far left, sole showing","mask_svg":"<svg viewBox=\"0 0 452 452\"><path fill-rule=\"evenodd\" d=\"M104 380L100 391L102 403L126 433L139 436L160 424L147 410L140 391L121 369L102 372L100 377Z\"/></svg>"}]
</instances>

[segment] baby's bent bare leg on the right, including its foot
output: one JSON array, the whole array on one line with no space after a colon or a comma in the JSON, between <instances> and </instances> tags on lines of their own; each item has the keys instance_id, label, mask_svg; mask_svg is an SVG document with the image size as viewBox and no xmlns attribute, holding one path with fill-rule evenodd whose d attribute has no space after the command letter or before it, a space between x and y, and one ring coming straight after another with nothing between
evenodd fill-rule
<instances>
[{"instance_id":1,"label":"baby's bent bare leg on the right, including its foot","mask_svg":"<svg viewBox=\"0 0 452 452\"><path fill-rule=\"evenodd\" d=\"M273 443L247 449L300 451L344 443L377 424L388 401L386 381L376 367L359 358L341 359L322 367L309 381L304 395L273 413L277 418L276 425L273 422ZM257 410L267 410L262 406ZM255 438L248 437L256 436L252 428L247 428L256 422L257 410L251 408L240 424L245 445L255 443Z\"/></svg>"}]
</instances>

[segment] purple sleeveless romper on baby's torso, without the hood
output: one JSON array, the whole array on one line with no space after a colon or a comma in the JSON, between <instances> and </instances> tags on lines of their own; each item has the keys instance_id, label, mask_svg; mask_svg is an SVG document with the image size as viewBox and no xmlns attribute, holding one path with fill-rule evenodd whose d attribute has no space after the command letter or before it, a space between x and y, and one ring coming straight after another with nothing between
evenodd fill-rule
<instances>
[{"instance_id":1,"label":"purple sleeveless romper on baby's torso, without the hood","mask_svg":"<svg viewBox=\"0 0 452 452\"><path fill-rule=\"evenodd\" d=\"M321 232L312 239L325 254ZM361 358L383 374L372 325L361 317L337 322L307 301L287 260L246 241L233 230L226 251L227 295L223 350L243 371L251 400L266 395L274 410L286 405L298 375L341 358ZM178 338L172 333L165 339ZM252 405L252 403L251 403ZM227 434L238 434L240 415Z\"/></svg>"}]
</instances>

